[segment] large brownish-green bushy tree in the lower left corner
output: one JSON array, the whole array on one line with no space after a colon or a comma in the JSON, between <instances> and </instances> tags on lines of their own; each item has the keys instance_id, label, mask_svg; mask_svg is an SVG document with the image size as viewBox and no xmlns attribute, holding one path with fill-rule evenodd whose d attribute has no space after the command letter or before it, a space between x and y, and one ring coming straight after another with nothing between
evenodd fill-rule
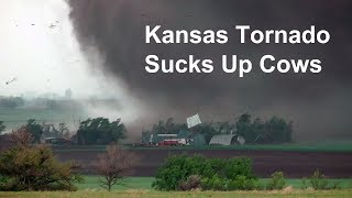
<instances>
[{"instance_id":1,"label":"large brownish-green bushy tree in the lower left corner","mask_svg":"<svg viewBox=\"0 0 352 198\"><path fill-rule=\"evenodd\" d=\"M11 134L15 146L0 154L0 173L7 178L3 190L75 190L81 177L75 163L59 163L46 145L31 145L26 128Z\"/></svg>"}]
</instances>

